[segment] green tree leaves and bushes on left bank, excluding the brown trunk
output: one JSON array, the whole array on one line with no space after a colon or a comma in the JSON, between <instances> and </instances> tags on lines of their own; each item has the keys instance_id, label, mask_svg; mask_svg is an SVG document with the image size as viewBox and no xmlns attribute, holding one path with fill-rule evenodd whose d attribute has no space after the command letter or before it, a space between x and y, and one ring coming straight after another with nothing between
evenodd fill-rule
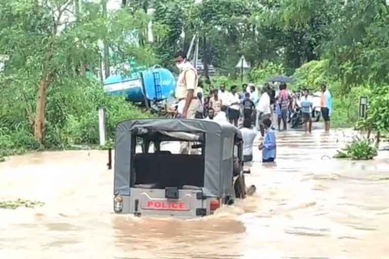
<instances>
[{"instance_id":1,"label":"green tree leaves and bushes on left bank, excluding the brown trunk","mask_svg":"<svg viewBox=\"0 0 389 259\"><path fill-rule=\"evenodd\" d=\"M85 76L87 69L100 72L102 42L109 46L112 66L131 57L152 65L156 58L144 40L150 17L143 10L123 9L106 15L101 3L76 1L82 12L66 19L73 2L0 0L0 53L10 57L0 73L0 157L97 144L101 106L108 110L110 138L118 121L150 116L122 97L107 97L100 81ZM134 34L142 45L131 38ZM45 138L38 142L33 125L42 82L47 84Z\"/></svg>"}]
</instances>

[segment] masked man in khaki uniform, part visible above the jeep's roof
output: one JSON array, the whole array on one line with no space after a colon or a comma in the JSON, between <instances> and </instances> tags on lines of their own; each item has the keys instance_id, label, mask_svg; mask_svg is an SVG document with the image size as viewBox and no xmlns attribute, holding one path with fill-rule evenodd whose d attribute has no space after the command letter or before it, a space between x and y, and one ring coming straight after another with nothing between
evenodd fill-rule
<instances>
[{"instance_id":1,"label":"masked man in khaki uniform, part visible above the jeep's roof","mask_svg":"<svg viewBox=\"0 0 389 259\"><path fill-rule=\"evenodd\" d=\"M195 118L199 101L197 85L199 82L197 70L186 59L182 51L174 55L174 62L180 70L176 86L176 98L178 100L178 113L181 118Z\"/></svg>"}]
</instances>

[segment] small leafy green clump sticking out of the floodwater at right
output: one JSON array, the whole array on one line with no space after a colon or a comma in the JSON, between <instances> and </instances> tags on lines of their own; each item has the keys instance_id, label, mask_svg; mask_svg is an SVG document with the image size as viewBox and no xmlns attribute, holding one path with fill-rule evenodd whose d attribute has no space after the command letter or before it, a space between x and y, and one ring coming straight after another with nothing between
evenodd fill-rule
<instances>
[{"instance_id":1,"label":"small leafy green clump sticking out of the floodwater at right","mask_svg":"<svg viewBox=\"0 0 389 259\"><path fill-rule=\"evenodd\" d=\"M370 160L377 156L377 148L369 140L358 140L337 151L334 158L351 158L353 160Z\"/></svg>"}]
</instances>

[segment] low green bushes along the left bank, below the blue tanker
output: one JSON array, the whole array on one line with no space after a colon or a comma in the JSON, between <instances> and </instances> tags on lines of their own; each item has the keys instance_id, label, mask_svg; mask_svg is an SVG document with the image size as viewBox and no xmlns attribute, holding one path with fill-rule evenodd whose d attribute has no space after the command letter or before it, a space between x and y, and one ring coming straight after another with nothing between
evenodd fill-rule
<instances>
[{"instance_id":1,"label":"low green bushes along the left bank, below the blue tanker","mask_svg":"<svg viewBox=\"0 0 389 259\"><path fill-rule=\"evenodd\" d=\"M100 81L67 77L56 81L49 89L45 139L41 144L33 137L27 114L21 112L25 107L34 107L33 95L27 97L27 101L18 101L14 95L8 98L14 98L14 102L0 107L0 117L4 114L6 118L0 128L0 157L43 148L97 145L99 107L107 109L107 138L111 139L119 121L151 116L124 97L107 96Z\"/></svg>"}]
</instances>

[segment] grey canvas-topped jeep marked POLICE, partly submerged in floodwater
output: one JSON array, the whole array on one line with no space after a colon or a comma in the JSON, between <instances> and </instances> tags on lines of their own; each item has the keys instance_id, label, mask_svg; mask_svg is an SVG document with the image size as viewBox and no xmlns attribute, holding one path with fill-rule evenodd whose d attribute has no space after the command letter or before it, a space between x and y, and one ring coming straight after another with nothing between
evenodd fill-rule
<instances>
[{"instance_id":1,"label":"grey canvas-topped jeep marked POLICE, partly submerged in floodwater","mask_svg":"<svg viewBox=\"0 0 389 259\"><path fill-rule=\"evenodd\" d=\"M242 143L242 137L229 123L197 119L119 123L114 211L182 218L212 214L235 198L232 167L236 143ZM137 145L141 152L136 152ZM187 152L182 152L187 146Z\"/></svg>"}]
</instances>

